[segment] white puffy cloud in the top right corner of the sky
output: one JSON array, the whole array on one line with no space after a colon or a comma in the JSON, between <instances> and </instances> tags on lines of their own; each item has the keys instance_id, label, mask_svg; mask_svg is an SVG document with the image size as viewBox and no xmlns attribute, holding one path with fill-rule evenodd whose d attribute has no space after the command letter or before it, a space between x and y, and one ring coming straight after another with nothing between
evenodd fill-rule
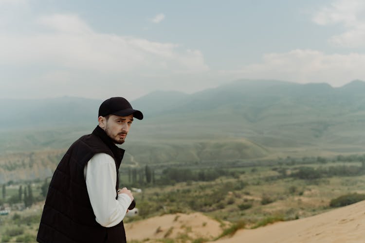
<instances>
[{"instance_id":1,"label":"white puffy cloud in the top right corner of the sky","mask_svg":"<svg viewBox=\"0 0 365 243\"><path fill-rule=\"evenodd\" d=\"M342 47L365 46L365 1L336 0L315 13L312 20L319 25L341 24L345 32L332 36L329 42Z\"/></svg>"}]
</instances>

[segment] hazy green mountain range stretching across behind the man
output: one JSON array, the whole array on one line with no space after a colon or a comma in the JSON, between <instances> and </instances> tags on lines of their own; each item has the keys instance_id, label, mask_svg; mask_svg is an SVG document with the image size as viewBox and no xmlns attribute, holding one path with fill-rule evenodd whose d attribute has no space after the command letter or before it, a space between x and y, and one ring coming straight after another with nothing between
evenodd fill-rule
<instances>
[{"instance_id":1,"label":"hazy green mountain range stretching across behind the man","mask_svg":"<svg viewBox=\"0 0 365 243\"><path fill-rule=\"evenodd\" d=\"M193 94L153 92L131 102L145 119L133 123L123 144L124 164L364 153L364 90L358 80L343 87L238 80ZM96 126L101 102L2 99L0 181L50 176L65 149ZM24 167L27 161L36 166Z\"/></svg>"}]
</instances>

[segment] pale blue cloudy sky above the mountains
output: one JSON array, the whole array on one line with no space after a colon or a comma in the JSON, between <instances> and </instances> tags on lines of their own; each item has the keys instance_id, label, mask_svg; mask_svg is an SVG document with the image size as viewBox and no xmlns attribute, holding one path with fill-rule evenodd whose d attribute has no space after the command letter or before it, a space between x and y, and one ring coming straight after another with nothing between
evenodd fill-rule
<instances>
[{"instance_id":1,"label":"pale blue cloudy sky above the mountains","mask_svg":"<svg viewBox=\"0 0 365 243\"><path fill-rule=\"evenodd\" d=\"M0 98L365 80L363 0L0 0Z\"/></svg>"}]
</instances>

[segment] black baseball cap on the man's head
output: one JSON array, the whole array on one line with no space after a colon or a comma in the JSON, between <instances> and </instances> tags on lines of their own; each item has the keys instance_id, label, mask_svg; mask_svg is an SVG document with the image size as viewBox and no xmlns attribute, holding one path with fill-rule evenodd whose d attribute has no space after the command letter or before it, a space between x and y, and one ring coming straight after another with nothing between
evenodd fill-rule
<instances>
[{"instance_id":1,"label":"black baseball cap on the man's head","mask_svg":"<svg viewBox=\"0 0 365 243\"><path fill-rule=\"evenodd\" d=\"M117 115L126 117L133 114L133 117L138 120L143 119L143 114L139 110L135 110L129 104L129 102L123 97L112 97L104 101L99 107L99 117L105 117L107 115Z\"/></svg>"}]
</instances>

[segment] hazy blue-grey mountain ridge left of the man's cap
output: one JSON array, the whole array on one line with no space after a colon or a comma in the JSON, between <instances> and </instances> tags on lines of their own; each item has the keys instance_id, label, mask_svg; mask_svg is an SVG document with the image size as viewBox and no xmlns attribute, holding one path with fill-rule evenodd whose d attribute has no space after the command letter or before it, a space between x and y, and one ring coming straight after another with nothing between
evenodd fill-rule
<instances>
[{"instance_id":1,"label":"hazy blue-grey mountain ridge left of the man's cap","mask_svg":"<svg viewBox=\"0 0 365 243\"><path fill-rule=\"evenodd\" d=\"M102 101L76 97L39 100L0 99L0 131L55 129L59 126L95 124ZM56 129L55 129L56 130Z\"/></svg>"}]
</instances>

